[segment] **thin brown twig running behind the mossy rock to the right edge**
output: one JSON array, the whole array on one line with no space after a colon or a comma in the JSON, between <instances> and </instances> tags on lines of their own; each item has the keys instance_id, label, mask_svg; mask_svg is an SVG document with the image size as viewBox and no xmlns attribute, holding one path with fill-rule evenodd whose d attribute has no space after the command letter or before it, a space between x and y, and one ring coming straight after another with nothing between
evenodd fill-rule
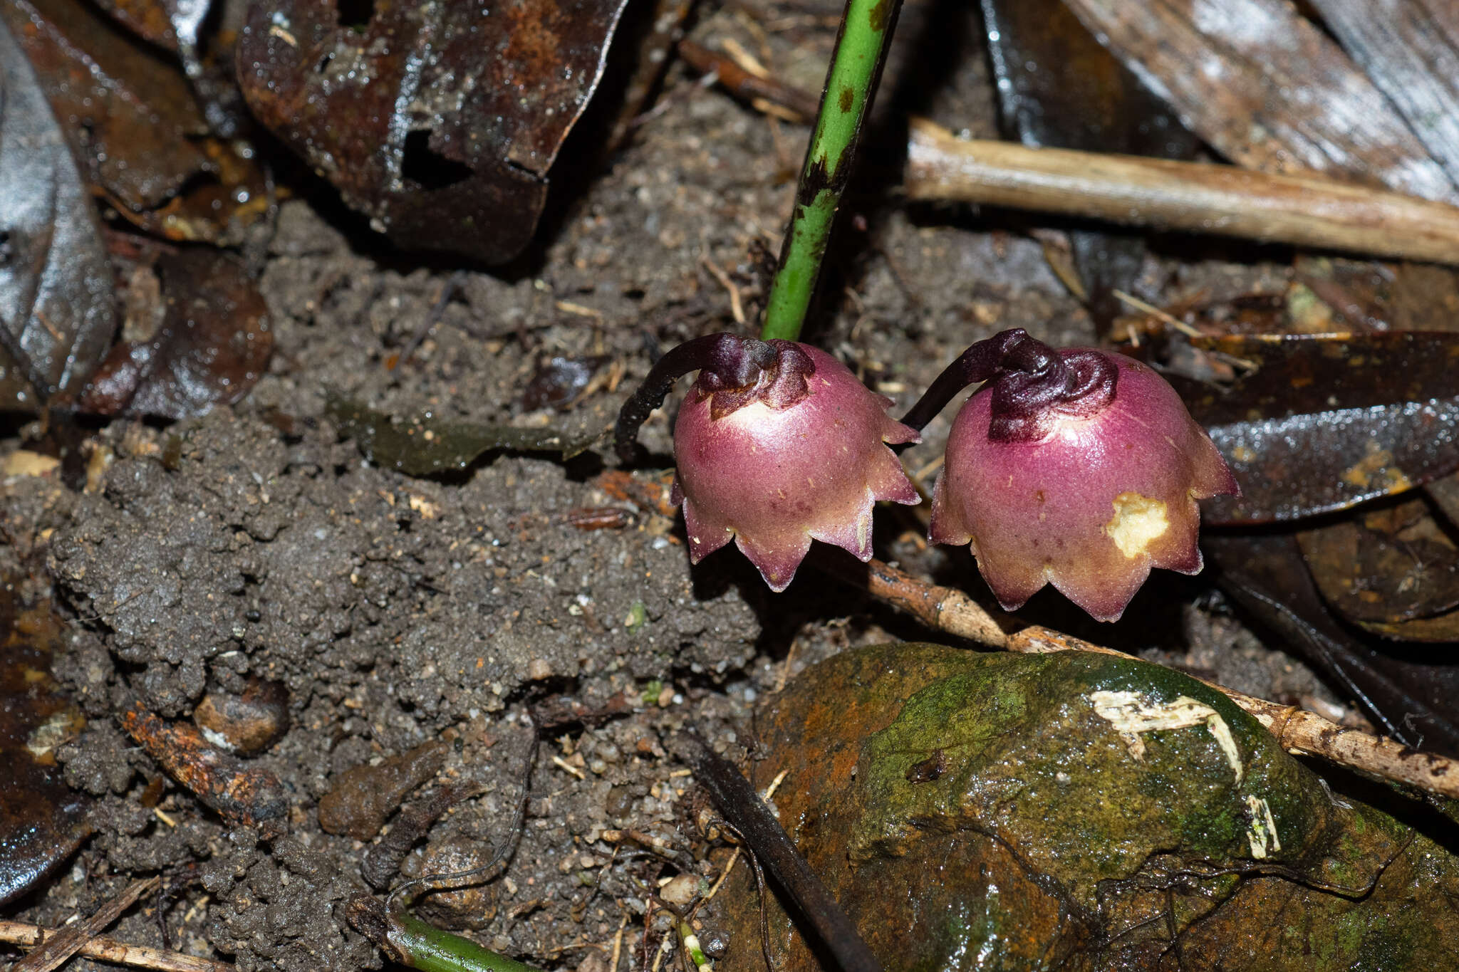
<instances>
[{"instance_id":1,"label":"thin brown twig running behind the mossy rock to the right edge","mask_svg":"<svg viewBox=\"0 0 1459 972\"><path fill-rule=\"evenodd\" d=\"M862 565L849 557L817 561L840 580L877 600L905 611L929 628L992 648L1043 654L1094 651L1131 657L1040 625L1023 625L1014 615L989 611L960 590L943 587L889 567L880 560ZM1319 756L1350 769L1408 784L1425 793L1459 799L1459 761L1418 752L1386 736L1347 729L1296 705L1280 705L1224 685L1198 679L1224 694L1277 737L1293 755Z\"/></svg>"}]
</instances>

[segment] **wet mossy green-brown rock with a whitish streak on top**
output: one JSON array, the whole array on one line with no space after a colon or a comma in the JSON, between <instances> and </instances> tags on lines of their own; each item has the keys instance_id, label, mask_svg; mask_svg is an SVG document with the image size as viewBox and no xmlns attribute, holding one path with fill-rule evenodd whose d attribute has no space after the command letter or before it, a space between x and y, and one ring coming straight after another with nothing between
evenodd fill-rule
<instances>
[{"instance_id":1,"label":"wet mossy green-brown rock with a whitish streak on top","mask_svg":"<svg viewBox=\"0 0 1459 972\"><path fill-rule=\"evenodd\" d=\"M1459 934L1440 844L1335 801L1226 697L1134 659L846 651L759 737L757 781L788 771L781 822L887 968L1421 968ZM754 941L753 882L727 892ZM821 968L770 909L778 968Z\"/></svg>"}]
</instances>

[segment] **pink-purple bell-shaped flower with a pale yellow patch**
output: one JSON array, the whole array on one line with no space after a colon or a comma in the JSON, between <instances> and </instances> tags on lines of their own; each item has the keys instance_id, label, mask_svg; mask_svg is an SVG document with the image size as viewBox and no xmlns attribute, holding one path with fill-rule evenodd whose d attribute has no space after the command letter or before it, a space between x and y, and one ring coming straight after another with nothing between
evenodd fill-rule
<instances>
[{"instance_id":1,"label":"pink-purple bell-shaped flower with a pale yellow patch","mask_svg":"<svg viewBox=\"0 0 1459 972\"><path fill-rule=\"evenodd\" d=\"M1239 488L1174 389L1122 354L1053 351L1023 331L989 342L959 358L992 380L953 421L931 539L967 544L1008 611L1052 583L1118 621L1151 567L1198 573L1196 500Z\"/></svg>"}]
</instances>

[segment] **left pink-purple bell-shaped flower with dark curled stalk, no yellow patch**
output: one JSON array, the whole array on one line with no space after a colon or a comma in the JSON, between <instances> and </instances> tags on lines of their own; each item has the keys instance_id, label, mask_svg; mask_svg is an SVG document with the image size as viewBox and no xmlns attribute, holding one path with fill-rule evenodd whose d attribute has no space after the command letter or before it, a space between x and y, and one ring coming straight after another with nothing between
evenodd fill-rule
<instances>
[{"instance_id":1,"label":"left pink-purple bell-shaped flower with dark curled stalk, no yellow patch","mask_svg":"<svg viewBox=\"0 0 1459 972\"><path fill-rule=\"evenodd\" d=\"M643 417L694 369L674 426L673 491L692 563L734 539L781 592L813 539L870 560L872 504L921 501L886 444L918 433L887 417L891 402L845 364L794 341L718 334L674 348L624 404L620 455L632 456Z\"/></svg>"}]
</instances>

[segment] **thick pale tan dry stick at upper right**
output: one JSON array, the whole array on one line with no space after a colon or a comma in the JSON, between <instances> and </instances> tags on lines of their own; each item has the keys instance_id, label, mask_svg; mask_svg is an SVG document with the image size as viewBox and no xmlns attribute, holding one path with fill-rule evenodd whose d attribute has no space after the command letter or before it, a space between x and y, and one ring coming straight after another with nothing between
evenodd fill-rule
<instances>
[{"instance_id":1,"label":"thick pale tan dry stick at upper right","mask_svg":"<svg viewBox=\"0 0 1459 972\"><path fill-rule=\"evenodd\" d=\"M1325 176L959 138L912 121L906 194L1459 264L1459 208Z\"/></svg>"}]
</instances>

